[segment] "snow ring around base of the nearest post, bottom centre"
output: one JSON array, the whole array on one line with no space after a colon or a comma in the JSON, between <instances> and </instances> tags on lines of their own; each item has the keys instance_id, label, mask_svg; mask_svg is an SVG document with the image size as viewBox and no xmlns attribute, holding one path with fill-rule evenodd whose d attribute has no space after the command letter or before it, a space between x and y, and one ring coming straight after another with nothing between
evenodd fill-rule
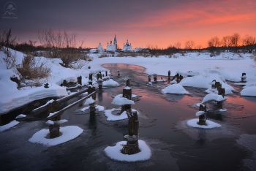
<instances>
[{"instance_id":1,"label":"snow ring around base of the nearest post, bottom centre","mask_svg":"<svg viewBox=\"0 0 256 171\"><path fill-rule=\"evenodd\" d=\"M117 142L116 146L105 148L105 153L108 157L118 161L145 161L151 158L151 149L148 147L145 141L138 140L140 152L132 155L121 153L122 144L127 144L126 141Z\"/></svg>"}]
</instances>

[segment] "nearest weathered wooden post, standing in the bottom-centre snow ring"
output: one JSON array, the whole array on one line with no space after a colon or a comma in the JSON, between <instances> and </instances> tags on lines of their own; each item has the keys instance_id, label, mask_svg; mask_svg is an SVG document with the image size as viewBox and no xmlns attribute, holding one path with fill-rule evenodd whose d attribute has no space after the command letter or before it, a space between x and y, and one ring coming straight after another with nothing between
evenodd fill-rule
<instances>
[{"instance_id":1,"label":"nearest weathered wooden post, standing in the bottom-centre snow ring","mask_svg":"<svg viewBox=\"0 0 256 171\"><path fill-rule=\"evenodd\" d=\"M139 120L138 120L138 113L132 113L132 110L127 110L128 116L128 135L127 135L127 144L122 145L123 148L121 149L121 153L124 154L135 154L139 152Z\"/></svg>"}]
</instances>

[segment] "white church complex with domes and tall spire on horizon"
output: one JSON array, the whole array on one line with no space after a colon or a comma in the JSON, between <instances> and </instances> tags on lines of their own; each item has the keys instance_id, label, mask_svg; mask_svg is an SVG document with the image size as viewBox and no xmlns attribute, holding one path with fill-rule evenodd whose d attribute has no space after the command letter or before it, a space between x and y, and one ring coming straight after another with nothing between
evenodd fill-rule
<instances>
[{"instance_id":1,"label":"white church complex with domes and tall spire on horizon","mask_svg":"<svg viewBox=\"0 0 256 171\"><path fill-rule=\"evenodd\" d=\"M136 52L139 50L142 50L142 47L137 47L135 49L132 49L132 44L128 42L127 39L127 43L124 44L124 47L122 49L122 51L129 51L129 52ZM112 40L110 40L110 44L108 43L107 45L107 49L103 49L102 45L99 42L99 46L97 47L97 49L91 49L90 52L91 53L102 53L102 52L114 52L117 50L117 41L116 41L116 34L115 34L115 38L114 38L114 42L112 44Z\"/></svg>"}]
</instances>

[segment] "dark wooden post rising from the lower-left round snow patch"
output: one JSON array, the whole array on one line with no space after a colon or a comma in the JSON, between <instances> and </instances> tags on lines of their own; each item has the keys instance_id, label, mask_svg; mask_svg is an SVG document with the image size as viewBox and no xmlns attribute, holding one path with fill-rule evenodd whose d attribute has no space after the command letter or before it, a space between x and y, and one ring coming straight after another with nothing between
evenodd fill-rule
<instances>
[{"instance_id":1,"label":"dark wooden post rising from the lower-left round snow patch","mask_svg":"<svg viewBox=\"0 0 256 171\"><path fill-rule=\"evenodd\" d=\"M54 100L52 103L48 104L48 115L50 113L55 113L58 111L59 104L56 100ZM61 120L61 115L57 115L56 117L50 119L51 121L59 121ZM53 123L49 124L49 132L50 132L50 138L59 137L59 123Z\"/></svg>"}]
</instances>

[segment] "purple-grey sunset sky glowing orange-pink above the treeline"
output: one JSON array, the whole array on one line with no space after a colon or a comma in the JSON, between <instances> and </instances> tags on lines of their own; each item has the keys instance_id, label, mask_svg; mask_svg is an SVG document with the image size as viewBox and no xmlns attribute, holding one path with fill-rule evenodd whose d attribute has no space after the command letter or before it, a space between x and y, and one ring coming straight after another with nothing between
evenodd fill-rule
<instances>
[{"instance_id":1,"label":"purple-grey sunset sky glowing orange-pink above the treeline","mask_svg":"<svg viewBox=\"0 0 256 171\"><path fill-rule=\"evenodd\" d=\"M4 5L0 2L0 14ZM0 33L12 28L20 42L39 42L38 29L66 30L84 39L83 47L105 48L115 33L119 47L129 39L132 48L208 39L234 33L256 37L255 0L28 0L12 1L18 19L0 18ZM39 45L39 44L37 44Z\"/></svg>"}]
</instances>

